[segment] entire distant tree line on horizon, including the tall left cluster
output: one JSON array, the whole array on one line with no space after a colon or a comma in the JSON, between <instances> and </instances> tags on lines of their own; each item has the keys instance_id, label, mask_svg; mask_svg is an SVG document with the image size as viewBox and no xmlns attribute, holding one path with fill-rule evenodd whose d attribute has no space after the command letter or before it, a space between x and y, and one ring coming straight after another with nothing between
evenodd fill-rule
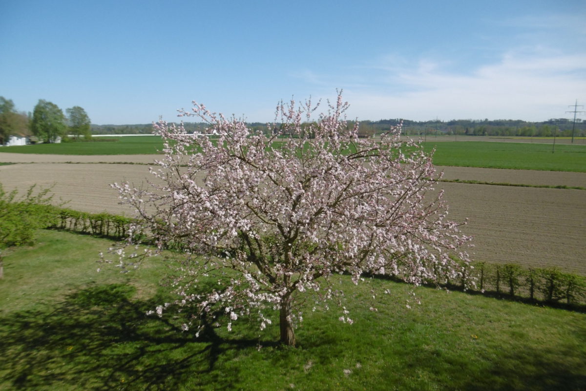
<instances>
[{"instance_id":1,"label":"entire distant tree line on horizon, including the tall left cluster","mask_svg":"<svg viewBox=\"0 0 586 391\"><path fill-rule=\"evenodd\" d=\"M96 125L91 124L86 111L74 106L66 109L67 115L54 103L39 100L32 113L16 111L12 100L0 97L0 145L8 141L10 135L33 135L36 142L54 142L57 138L67 141L71 138L91 138L92 134L152 134L152 124ZM359 135L372 137L389 131L401 120L398 118L379 121L360 121ZM354 121L348 126L353 127ZM184 123L185 130L204 132L206 123ZM254 130L270 134L279 130L281 124L260 122L248 123ZM551 118L547 121L529 122L523 120L449 120L449 121L411 121L403 120L406 135L481 135L493 137L553 137L571 135L572 120ZM275 129L276 127L276 129ZM586 121L576 120L575 137L586 136Z\"/></svg>"}]
</instances>

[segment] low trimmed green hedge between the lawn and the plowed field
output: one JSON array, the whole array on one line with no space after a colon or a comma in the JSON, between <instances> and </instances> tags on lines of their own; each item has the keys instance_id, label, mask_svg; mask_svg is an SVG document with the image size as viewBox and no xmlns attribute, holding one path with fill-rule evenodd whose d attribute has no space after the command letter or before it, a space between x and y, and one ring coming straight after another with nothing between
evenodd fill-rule
<instances>
[{"instance_id":1,"label":"low trimmed green hedge between the lawn and the plowed field","mask_svg":"<svg viewBox=\"0 0 586 391\"><path fill-rule=\"evenodd\" d=\"M45 198L47 191L32 197L32 189L24 200L15 202L16 193L6 194L0 186L0 200L4 202L2 204L4 210L18 212L11 215L18 214L18 221L21 222L23 211L26 210L25 215L28 216L27 226L29 229L26 230L26 234L21 235L24 239L9 239L7 236L4 239L8 243L5 244L18 245L23 242L32 242L34 230L37 228L68 230L122 240L126 239L128 229L134 222L134 219L130 217L110 215L109 213L79 212L78 210L47 205L50 200L50 198ZM40 201L40 203L36 204L34 201ZM5 231L15 232L15 228L10 224L16 219L6 217L4 216L3 219L3 223L6 225ZM35 224L32 224L32 221ZM175 242L168 243L166 246L166 248L176 251L180 251L182 247L182 243ZM459 281L444 279L442 282L442 285L450 288L461 288L482 294L496 294L501 297L519 298L532 302L586 304L586 277L564 273L559 267L523 268L518 264L476 262L462 268Z\"/></svg>"}]
</instances>

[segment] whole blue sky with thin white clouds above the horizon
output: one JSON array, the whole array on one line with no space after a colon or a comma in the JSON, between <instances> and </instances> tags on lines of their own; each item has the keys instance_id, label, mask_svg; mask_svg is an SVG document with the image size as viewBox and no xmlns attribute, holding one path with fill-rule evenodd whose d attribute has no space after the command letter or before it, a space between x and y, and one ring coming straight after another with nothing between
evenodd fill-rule
<instances>
[{"instance_id":1,"label":"whole blue sky with thin white clouds above the horizon","mask_svg":"<svg viewBox=\"0 0 586 391\"><path fill-rule=\"evenodd\" d=\"M586 103L585 44L584 0L0 0L0 96L95 124L272 121L336 89L351 119L541 121Z\"/></svg>"}]
</instances>

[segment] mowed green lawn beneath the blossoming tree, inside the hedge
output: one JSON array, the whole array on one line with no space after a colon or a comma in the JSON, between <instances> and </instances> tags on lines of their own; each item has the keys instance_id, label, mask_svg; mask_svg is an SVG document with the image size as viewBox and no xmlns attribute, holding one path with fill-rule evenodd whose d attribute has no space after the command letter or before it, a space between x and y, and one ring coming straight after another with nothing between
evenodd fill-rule
<instances>
[{"instance_id":1,"label":"mowed green lawn beneath the blossoming tree, inside the hedge","mask_svg":"<svg viewBox=\"0 0 586 391\"><path fill-rule=\"evenodd\" d=\"M304 314L297 348L246 319L199 338L181 319L147 317L170 298L156 263L96 273L104 239L41 231L5 256L0 389L27 390L583 390L586 315L338 277L355 324ZM389 289L369 311L370 289ZM411 298L413 308L406 307Z\"/></svg>"}]
</instances>

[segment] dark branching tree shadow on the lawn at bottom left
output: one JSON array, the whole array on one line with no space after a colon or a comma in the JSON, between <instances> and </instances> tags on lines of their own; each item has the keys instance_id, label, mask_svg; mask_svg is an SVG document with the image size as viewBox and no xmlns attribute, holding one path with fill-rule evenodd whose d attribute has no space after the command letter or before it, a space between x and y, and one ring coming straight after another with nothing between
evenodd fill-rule
<instances>
[{"instance_id":1,"label":"dark branching tree shadow on the lawn at bottom left","mask_svg":"<svg viewBox=\"0 0 586 391\"><path fill-rule=\"evenodd\" d=\"M225 339L212 327L195 338L145 311L154 302L131 301L128 285L94 286L53 310L0 318L0 377L13 389L167 390L229 389L237 369L216 368L258 339ZM265 346L273 342L262 342ZM0 387L2 382L0 382Z\"/></svg>"}]
</instances>

